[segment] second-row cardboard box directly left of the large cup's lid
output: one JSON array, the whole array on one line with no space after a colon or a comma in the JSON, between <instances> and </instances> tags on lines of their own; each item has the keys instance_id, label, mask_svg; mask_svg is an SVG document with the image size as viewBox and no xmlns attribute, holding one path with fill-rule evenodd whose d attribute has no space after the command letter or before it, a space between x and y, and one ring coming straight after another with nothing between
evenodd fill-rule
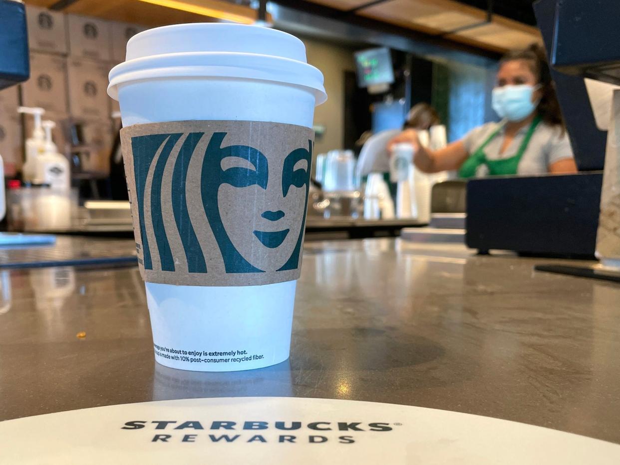
<instances>
[{"instance_id":1,"label":"second-row cardboard box directly left of the large cup's lid","mask_svg":"<svg viewBox=\"0 0 620 465\"><path fill-rule=\"evenodd\" d=\"M68 68L71 116L86 119L109 118L108 64L69 58Z\"/></svg>"}]
</instances>

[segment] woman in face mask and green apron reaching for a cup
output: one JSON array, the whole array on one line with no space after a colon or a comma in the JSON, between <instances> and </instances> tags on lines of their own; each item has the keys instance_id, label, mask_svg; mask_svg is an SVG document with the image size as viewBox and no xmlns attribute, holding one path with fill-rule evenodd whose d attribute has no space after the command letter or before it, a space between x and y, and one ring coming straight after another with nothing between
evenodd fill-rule
<instances>
[{"instance_id":1,"label":"woman in face mask and green apron reaching for a cup","mask_svg":"<svg viewBox=\"0 0 620 465\"><path fill-rule=\"evenodd\" d=\"M389 141L388 149L411 143L418 169L458 170L462 178L577 172L546 56L538 45L502 58L492 105L502 121L474 128L446 148L424 148L417 131L406 129Z\"/></svg>"}]
</instances>

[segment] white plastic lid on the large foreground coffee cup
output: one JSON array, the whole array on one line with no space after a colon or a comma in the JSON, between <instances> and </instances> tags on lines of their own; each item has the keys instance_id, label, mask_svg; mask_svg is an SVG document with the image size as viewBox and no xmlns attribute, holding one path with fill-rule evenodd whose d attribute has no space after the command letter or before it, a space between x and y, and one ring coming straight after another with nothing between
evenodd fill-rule
<instances>
[{"instance_id":1,"label":"white plastic lid on the large foreground coffee cup","mask_svg":"<svg viewBox=\"0 0 620 465\"><path fill-rule=\"evenodd\" d=\"M327 100L323 75L306 61L306 47L286 32L243 24L196 23L157 27L127 43L126 61L110 71L108 95L118 84L153 78L213 76L308 87L316 104Z\"/></svg>"}]
</instances>

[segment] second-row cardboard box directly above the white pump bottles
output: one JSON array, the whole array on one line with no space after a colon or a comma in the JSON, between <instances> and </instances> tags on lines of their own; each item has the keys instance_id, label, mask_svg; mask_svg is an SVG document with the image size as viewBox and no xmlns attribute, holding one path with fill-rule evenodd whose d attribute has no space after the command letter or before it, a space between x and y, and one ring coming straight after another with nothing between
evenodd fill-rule
<instances>
[{"instance_id":1,"label":"second-row cardboard box directly above the white pump bottles","mask_svg":"<svg viewBox=\"0 0 620 465\"><path fill-rule=\"evenodd\" d=\"M25 107L43 107L65 114L67 106L67 60L50 53L30 53L30 79L22 86Z\"/></svg>"}]
</instances>

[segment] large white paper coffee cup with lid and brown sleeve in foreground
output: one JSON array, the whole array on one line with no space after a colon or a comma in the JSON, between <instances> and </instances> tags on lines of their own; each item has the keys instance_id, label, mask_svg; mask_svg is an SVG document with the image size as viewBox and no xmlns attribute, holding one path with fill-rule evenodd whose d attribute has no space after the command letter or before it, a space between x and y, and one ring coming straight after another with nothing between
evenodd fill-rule
<instances>
[{"instance_id":1,"label":"large white paper coffee cup with lid and brown sleeve in foreground","mask_svg":"<svg viewBox=\"0 0 620 465\"><path fill-rule=\"evenodd\" d=\"M138 33L110 71L157 362L275 365L290 350L321 72L284 32Z\"/></svg>"}]
</instances>

